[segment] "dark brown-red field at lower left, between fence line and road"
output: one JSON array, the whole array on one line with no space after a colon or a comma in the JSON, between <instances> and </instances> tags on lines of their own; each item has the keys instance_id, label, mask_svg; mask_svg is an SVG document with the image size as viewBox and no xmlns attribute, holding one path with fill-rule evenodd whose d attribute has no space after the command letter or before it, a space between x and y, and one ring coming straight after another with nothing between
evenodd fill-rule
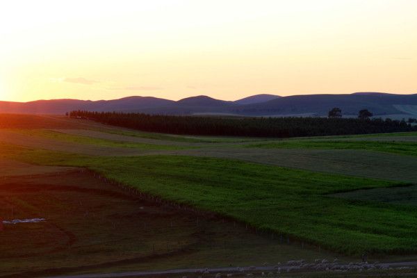
<instances>
[{"instance_id":1,"label":"dark brown-red field at lower left, between fence line and road","mask_svg":"<svg viewBox=\"0 0 417 278\"><path fill-rule=\"evenodd\" d=\"M87 171L0 179L1 275L261 265L336 254L141 199ZM341 258L340 256L338 256ZM343 257L341 258L343 259Z\"/></svg>"}]
</instances>

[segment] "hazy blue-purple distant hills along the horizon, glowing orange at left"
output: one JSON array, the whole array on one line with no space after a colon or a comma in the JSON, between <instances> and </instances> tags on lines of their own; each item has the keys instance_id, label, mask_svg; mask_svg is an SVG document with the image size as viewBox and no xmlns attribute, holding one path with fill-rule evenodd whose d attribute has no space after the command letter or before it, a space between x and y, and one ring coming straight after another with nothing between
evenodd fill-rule
<instances>
[{"instance_id":1,"label":"hazy blue-purple distant hills along the horizon, glowing orange at left","mask_svg":"<svg viewBox=\"0 0 417 278\"><path fill-rule=\"evenodd\" d=\"M417 116L417 94L395 95L382 92L356 92L346 95L253 95L236 101L207 96L179 101L156 97L124 97L114 100L84 101L53 99L30 102L0 101L0 113L64 114L73 110L139 112L167 115L243 116L324 116L334 108L343 115L357 115L368 109L376 116Z\"/></svg>"}]
</instances>

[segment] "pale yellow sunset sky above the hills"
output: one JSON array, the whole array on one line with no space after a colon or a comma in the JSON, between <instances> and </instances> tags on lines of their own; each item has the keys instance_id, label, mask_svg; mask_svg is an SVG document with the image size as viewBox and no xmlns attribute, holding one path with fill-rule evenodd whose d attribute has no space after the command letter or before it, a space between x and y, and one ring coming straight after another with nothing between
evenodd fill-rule
<instances>
[{"instance_id":1,"label":"pale yellow sunset sky above the hills","mask_svg":"<svg viewBox=\"0 0 417 278\"><path fill-rule=\"evenodd\" d=\"M3 1L0 100L417 93L415 0Z\"/></svg>"}]
</instances>

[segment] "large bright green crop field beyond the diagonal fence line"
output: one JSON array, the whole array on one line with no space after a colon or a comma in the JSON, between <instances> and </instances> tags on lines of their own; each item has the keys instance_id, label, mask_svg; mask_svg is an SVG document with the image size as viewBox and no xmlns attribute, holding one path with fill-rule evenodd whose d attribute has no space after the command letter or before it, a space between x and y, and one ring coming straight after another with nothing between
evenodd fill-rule
<instances>
[{"instance_id":1,"label":"large bright green crop field beyond the diagonal fence line","mask_svg":"<svg viewBox=\"0 0 417 278\"><path fill-rule=\"evenodd\" d=\"M417 250L417 211L326 196L395 183L216 158L144 156L115 161L97 166L90 161L88 167L152 195L337 252Z\"/></svg>"}]
</instances>

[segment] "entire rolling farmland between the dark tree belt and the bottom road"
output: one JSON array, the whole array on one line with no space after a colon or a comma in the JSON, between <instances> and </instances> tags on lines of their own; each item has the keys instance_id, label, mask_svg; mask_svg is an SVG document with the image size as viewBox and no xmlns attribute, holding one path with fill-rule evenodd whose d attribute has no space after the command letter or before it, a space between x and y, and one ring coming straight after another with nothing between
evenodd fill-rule
<instances>
[{"instance_id":1,"label":"entire rolling farmland between the dark tree belt and the bottom road","mask_svg":"<svg viewBox=\"0 0 417 278\"><path fill-rule=\"evenodd\" d=\"M0 216L46 221L1 232L3 275L417 254L416 133L277 140L6 118Z\"/></svg>"}]
</instances>

